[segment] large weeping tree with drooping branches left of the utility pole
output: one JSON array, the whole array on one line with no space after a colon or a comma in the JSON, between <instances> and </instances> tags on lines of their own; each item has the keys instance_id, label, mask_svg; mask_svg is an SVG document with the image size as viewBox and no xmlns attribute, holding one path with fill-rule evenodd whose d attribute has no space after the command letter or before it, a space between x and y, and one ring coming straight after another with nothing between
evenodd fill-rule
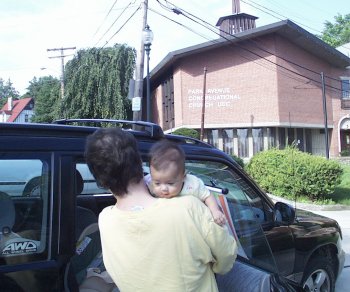
<instances>
[{"instance_id":1,"label":"large weeping tree with drooping branches left of the utility pole","mask_svg":"<svg viewBox=\"0 0 350 292\"><path fill-rule=\"evenodd\" d=\"M127 95L135 56L119 44L78 51L66 65L61 117L131 119Z\"/></svg>"}]
</instances>

